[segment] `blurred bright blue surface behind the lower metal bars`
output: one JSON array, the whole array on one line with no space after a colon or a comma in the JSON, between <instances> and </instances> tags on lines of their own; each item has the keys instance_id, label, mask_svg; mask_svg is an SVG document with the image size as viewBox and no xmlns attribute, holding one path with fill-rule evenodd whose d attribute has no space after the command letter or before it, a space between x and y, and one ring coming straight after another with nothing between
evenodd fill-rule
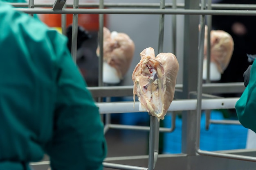
<instances>
[{"instance_id":1,"label":"blurred bright blue surface behind the lower metal bars","mask_svg":"<svg viewBox=\"0 0 256 170\"><path fill-rule=\"evenodd\" d=\"M211 111L211 119L223 120L219 111ZM164 126L171 127L171 116L166 115ZM181 153L182 119L176 117L175 130L164 133L164 153ZM205 129L205 114L201 118L201 150L229 150L245 148L247 129L242 125L210 124L209 130Z\"/></svg>"}]
</instances>

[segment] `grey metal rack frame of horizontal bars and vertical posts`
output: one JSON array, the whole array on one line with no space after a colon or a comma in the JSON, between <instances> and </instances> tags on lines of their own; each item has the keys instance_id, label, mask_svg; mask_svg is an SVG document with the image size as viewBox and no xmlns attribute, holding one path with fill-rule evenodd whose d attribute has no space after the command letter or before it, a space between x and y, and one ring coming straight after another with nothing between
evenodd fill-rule
<instances>
[{"instance_id":1,"label":"grey metal rack frame of horizontal bars and vertical posts","mask_svg":"<svg viewBox=\"0 0 256 170\"><path fill-rule=\"evenodd\" d=\"M64 0L65 1L65 0ZM192 159L193 156L206 155L212 157L222 157L229 159L239 159L244 161L256 161L256 157L234 155L234 153L228 154L224 152L209 152L205 150L200 150L200 120L202 109L220 109L220 108L234 108L234 105L238 98L212 98L204 99L204 93L213 92L243 92L243 83L209 83L209 78L207 79L207 84L202 84L202 59L203 59L203 41L204 41L204 25L205 15L256 15L256 5L246 5L246 4L211 4L208 2L206 4L205 0L202 0L201 4L199 0L185 0L184 4L177 4L176 0L173 3L165 3L165 0L160 0L160 3L105 3L104 0L100 0L99 3L80 3L78 0L74 0L73 9L63 9L65 7L71 7L72 4L65 4L62 6L63 1L58 1L54 4L34 4L34 0L29 0L29 3L11 3L15 7L29 7L28 9L20 8L16 9L18 11L23 11L33 15L38 14L63 14L63 21L65 19L65 14L73 14L73 28L77 28L78 14L99 14L99 45L100 59L99 59L99 87L90 87L94 97L99 97L100 113L110 115L110 113L126 113L126 112L139 112L139 103L135 102L135 107L133 107L132 102L100 102L101 97L110 96L131 96L132 88L131 86L123 87L104 87L102 82L102 56L103 56L103 15L104 14L155 14L160 15L159 19L159 45L158 52L163 50L163 36L164 36L164 15L173 15L173 35L175 37L176 33L176 20L175 15L185 15L185 30L184 30L184 74L183 74L183 85L176 85L175 98L181 100L173 100L171 107L168 111L183 111L183 124L182 124L182 154L179 155L158 155L158 135L159 131L171 132L175 128L174 119L172 122L171 129L159 128L159 123L156 121L155 117L150 116L150 127L143 126L124 126L111 124L110 117L107 117L107 124L104 131L106 132L109 128L114 129L133 129L133 130L146 130L150 131L149 137L149 154L145 156L134 156L134 157L123 157L123 158L106 158L108 160L119 160L119 159L136 159L138 157L148 158L148 168L138 167L138 166L128 166L116 163L104 162L103 166L107 168L123 169L123 170L153 170L157 162L157 157L187 157ZM42 9L34 7L49 7L52 9ZM78 9L78 7L98 7L99 9ZM108 7L108 9L104 9ZM113 8L113 9L111 9ZM117 9L114 9L117 8ZM126 9L124 9L126 8ZM132 9L127 9L132 8ZM143 8L143 9L139 9ZM153 8L153 9L145 9ZM158 8L158 9L155 9ZM171 9L167 9L171 8ZM178 9L182 8L182 9ZM184 9L183 9L184 8ZM231 9L231 10L229 10ZM251 11L248 11L251 10ZM197 23L199 22L201 31L198 37L195 32ZM210 20L210 17L209 17ZM64 27L64 26L63 26ZM208 34L209 35L209 34ZM77 31L73 29L72 31L72 57L76 61L76 40ZM173 39L173 51L175 52L175 40ZM195 43L198 40L198 44ZM209 43L209 41L208 41ZM196 50L198 49L198 50ZM209 54L209 49L208 49ZM188 57L190 55L190 57ZM209 56L209 55L208 55ZM208 63L209 64L209 63ZM197 70L198 68L198 70ZM191 74L190 70L196 70L194 74ZM209 71L208 71L209 77ZM198 81L195 82L194 80ZM228 90L227 90L228 89ZM113 92L115 91L115 92ZM193 99L196 96L196 99ZM113 107L115 105L115 107ZM121 109L120 109L121 108ZM208 122L209 121L209 122ZM216 122L210 120L208 116L207 126L209 123L223 123L223 124L239 124L239 122L234 121L222 121ZM195 127L196 124L196 127ZM49 161L31 163L31 165L42 165L48 164ZM187 168L188 170L190 168Z\"/></svg>"}]
</instances>

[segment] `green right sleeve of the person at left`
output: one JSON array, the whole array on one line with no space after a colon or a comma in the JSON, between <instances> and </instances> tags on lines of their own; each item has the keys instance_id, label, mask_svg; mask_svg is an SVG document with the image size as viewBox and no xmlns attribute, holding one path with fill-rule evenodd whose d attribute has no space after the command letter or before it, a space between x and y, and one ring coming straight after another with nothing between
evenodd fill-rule
<instances>
[{"instance_id":1,"label":"green right sleeve of the person at left","mask_svg":"<svg viewBox=\"0 0 256 170\"><path fill-rule=\"evenodd\" d=\"M106 141L99 109L68 50L58 61L52 170L102 170Z\"/></svg>"}]
</instances>

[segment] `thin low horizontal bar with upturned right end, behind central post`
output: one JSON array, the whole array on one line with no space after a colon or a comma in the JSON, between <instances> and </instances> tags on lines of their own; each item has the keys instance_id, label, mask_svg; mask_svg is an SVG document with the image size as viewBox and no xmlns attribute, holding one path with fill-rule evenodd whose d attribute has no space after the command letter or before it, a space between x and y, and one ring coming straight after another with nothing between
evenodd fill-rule
<instances>
[{"instance_id":1,"label":"thin low horizontal bar with upturned right end, behind central post","mask_svg":"<svg viewBox=\"0 0 256 170\"><path fill-rule=\"evenodd\" d=\"M172 120L173 123L173 120ZM174 119L175 124L175 119ZM128 129L128 130L138 130L138 131L149 131L149 126L134 126L134 125L124 125L124 124L109 124L110 129ZM159 128L159 132L172 132L174 130L173 124L171 128Z\"/></svg>"}]
</instances>

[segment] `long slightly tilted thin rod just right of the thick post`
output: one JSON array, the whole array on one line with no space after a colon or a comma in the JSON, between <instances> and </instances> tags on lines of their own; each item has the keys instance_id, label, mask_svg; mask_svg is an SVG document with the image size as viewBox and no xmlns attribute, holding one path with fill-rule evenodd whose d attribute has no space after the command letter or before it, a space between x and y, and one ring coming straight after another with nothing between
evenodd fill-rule
<instances>
[{"instance_id":1,"label":"long slightly tilted thin rod just right of the thick post","mask_svg":"<svg viewBox=\"0 0 256 170\"><path fill-rule=\"evenodd\" d=\"M201 0L201 9L206 8L205 0ZM197 88L197 107L196 107L196 142L195 149L200 148L200 127L201 127L201 112L202 112L202 76L203 76L203 60L204 60L204 27L205 27L205 15L201 15L200 18L200 34L198 45L198 88Z\"/></svg>"}]
</instances>

